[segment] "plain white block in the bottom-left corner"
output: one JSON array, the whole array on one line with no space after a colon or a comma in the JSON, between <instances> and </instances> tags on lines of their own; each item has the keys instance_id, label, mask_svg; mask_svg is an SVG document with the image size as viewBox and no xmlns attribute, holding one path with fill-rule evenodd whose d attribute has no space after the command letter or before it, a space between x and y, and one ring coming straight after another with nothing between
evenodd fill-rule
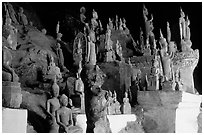
<instances>
[{"instance_id":1,"label":"plain white block in the bottom-left corner","mask_svg":"<svg viewBox=\"0 0 204 135\"><path fill-rule=\"evenodd\" d=\"M27 110L2 108L2 133L26 133Z\"/></svg>"}]
</instances>

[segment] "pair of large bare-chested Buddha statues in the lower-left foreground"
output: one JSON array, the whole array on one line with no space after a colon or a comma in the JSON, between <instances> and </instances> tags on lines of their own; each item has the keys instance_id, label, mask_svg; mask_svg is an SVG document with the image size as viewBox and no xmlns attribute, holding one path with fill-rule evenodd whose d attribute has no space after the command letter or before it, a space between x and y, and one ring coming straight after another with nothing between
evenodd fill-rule
<instances>
[{"instance_id":1,"label":"pair of large bare-chested Buddha statues in the lower-left foreground","mask_svg":"<svg viewBox=\"0 0 204 135\"><path fill-rule=\"evenodd\" d=\"M59 86L56 78L52 85L52 98L47 100L46 110L50 124L50 133L68 133L69 128L74 125L73 114L68 104L72 106L71 99L65 94L59 96Z\"/></svg>"}]
</instances>

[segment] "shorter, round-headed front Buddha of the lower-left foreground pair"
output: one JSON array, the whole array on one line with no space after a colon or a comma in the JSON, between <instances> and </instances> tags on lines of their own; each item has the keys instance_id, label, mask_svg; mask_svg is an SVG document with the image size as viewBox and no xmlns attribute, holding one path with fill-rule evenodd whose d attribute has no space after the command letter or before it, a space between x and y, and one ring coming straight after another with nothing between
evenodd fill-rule
<instances>
[{"instance_id":1,"label":"shorter, round-headed front Buddha of the lower-left foreground pair","mask_svg":"<svg viewBox=\"0 0 204 135\"><path fill-rule=\"evenodd\" d=\"M57 123L60 126L60 133L68 133L69 127L73 126L73 117L72 110L67 108L68 105L68 97L66 95L62 95L60 97L61 107L57 110Z\"/></svg>"}]
</instances>

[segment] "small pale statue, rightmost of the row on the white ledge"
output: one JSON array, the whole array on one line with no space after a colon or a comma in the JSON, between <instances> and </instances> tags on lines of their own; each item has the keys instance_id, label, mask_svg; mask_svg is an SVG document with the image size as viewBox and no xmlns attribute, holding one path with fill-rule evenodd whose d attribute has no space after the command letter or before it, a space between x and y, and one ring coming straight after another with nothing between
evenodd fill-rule
<instances>
[{"instance_id":1,"label":"small pale statue, rightmost of the row on the white ledge","mask_svg":"<svg viewBox=\"0 0 204 135\"><path fill-rule=\"evenodd\" d=\"M128 93L125 92L125 97L123 98L122 114L131 114L131 106L129 103Z\"/></svg>"}]
</instances>

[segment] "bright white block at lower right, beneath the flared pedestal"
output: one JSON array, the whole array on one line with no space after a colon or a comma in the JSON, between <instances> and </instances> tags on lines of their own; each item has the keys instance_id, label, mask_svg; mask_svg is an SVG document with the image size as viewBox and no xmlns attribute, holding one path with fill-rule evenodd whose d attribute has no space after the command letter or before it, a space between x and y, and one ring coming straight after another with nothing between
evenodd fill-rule
<instances>
[{"instance_id":1,"label":"bright white block at lower right, beneath the flared pedestal","mask_svg":"<svg viewBox=\"0 0 204 135\"><path fill-rule=\"evenodd\" d=\"M182 101L176 109L175 133L198 133L201 102L201 95L182 92Z\"/></svg>"}]
</instances>

